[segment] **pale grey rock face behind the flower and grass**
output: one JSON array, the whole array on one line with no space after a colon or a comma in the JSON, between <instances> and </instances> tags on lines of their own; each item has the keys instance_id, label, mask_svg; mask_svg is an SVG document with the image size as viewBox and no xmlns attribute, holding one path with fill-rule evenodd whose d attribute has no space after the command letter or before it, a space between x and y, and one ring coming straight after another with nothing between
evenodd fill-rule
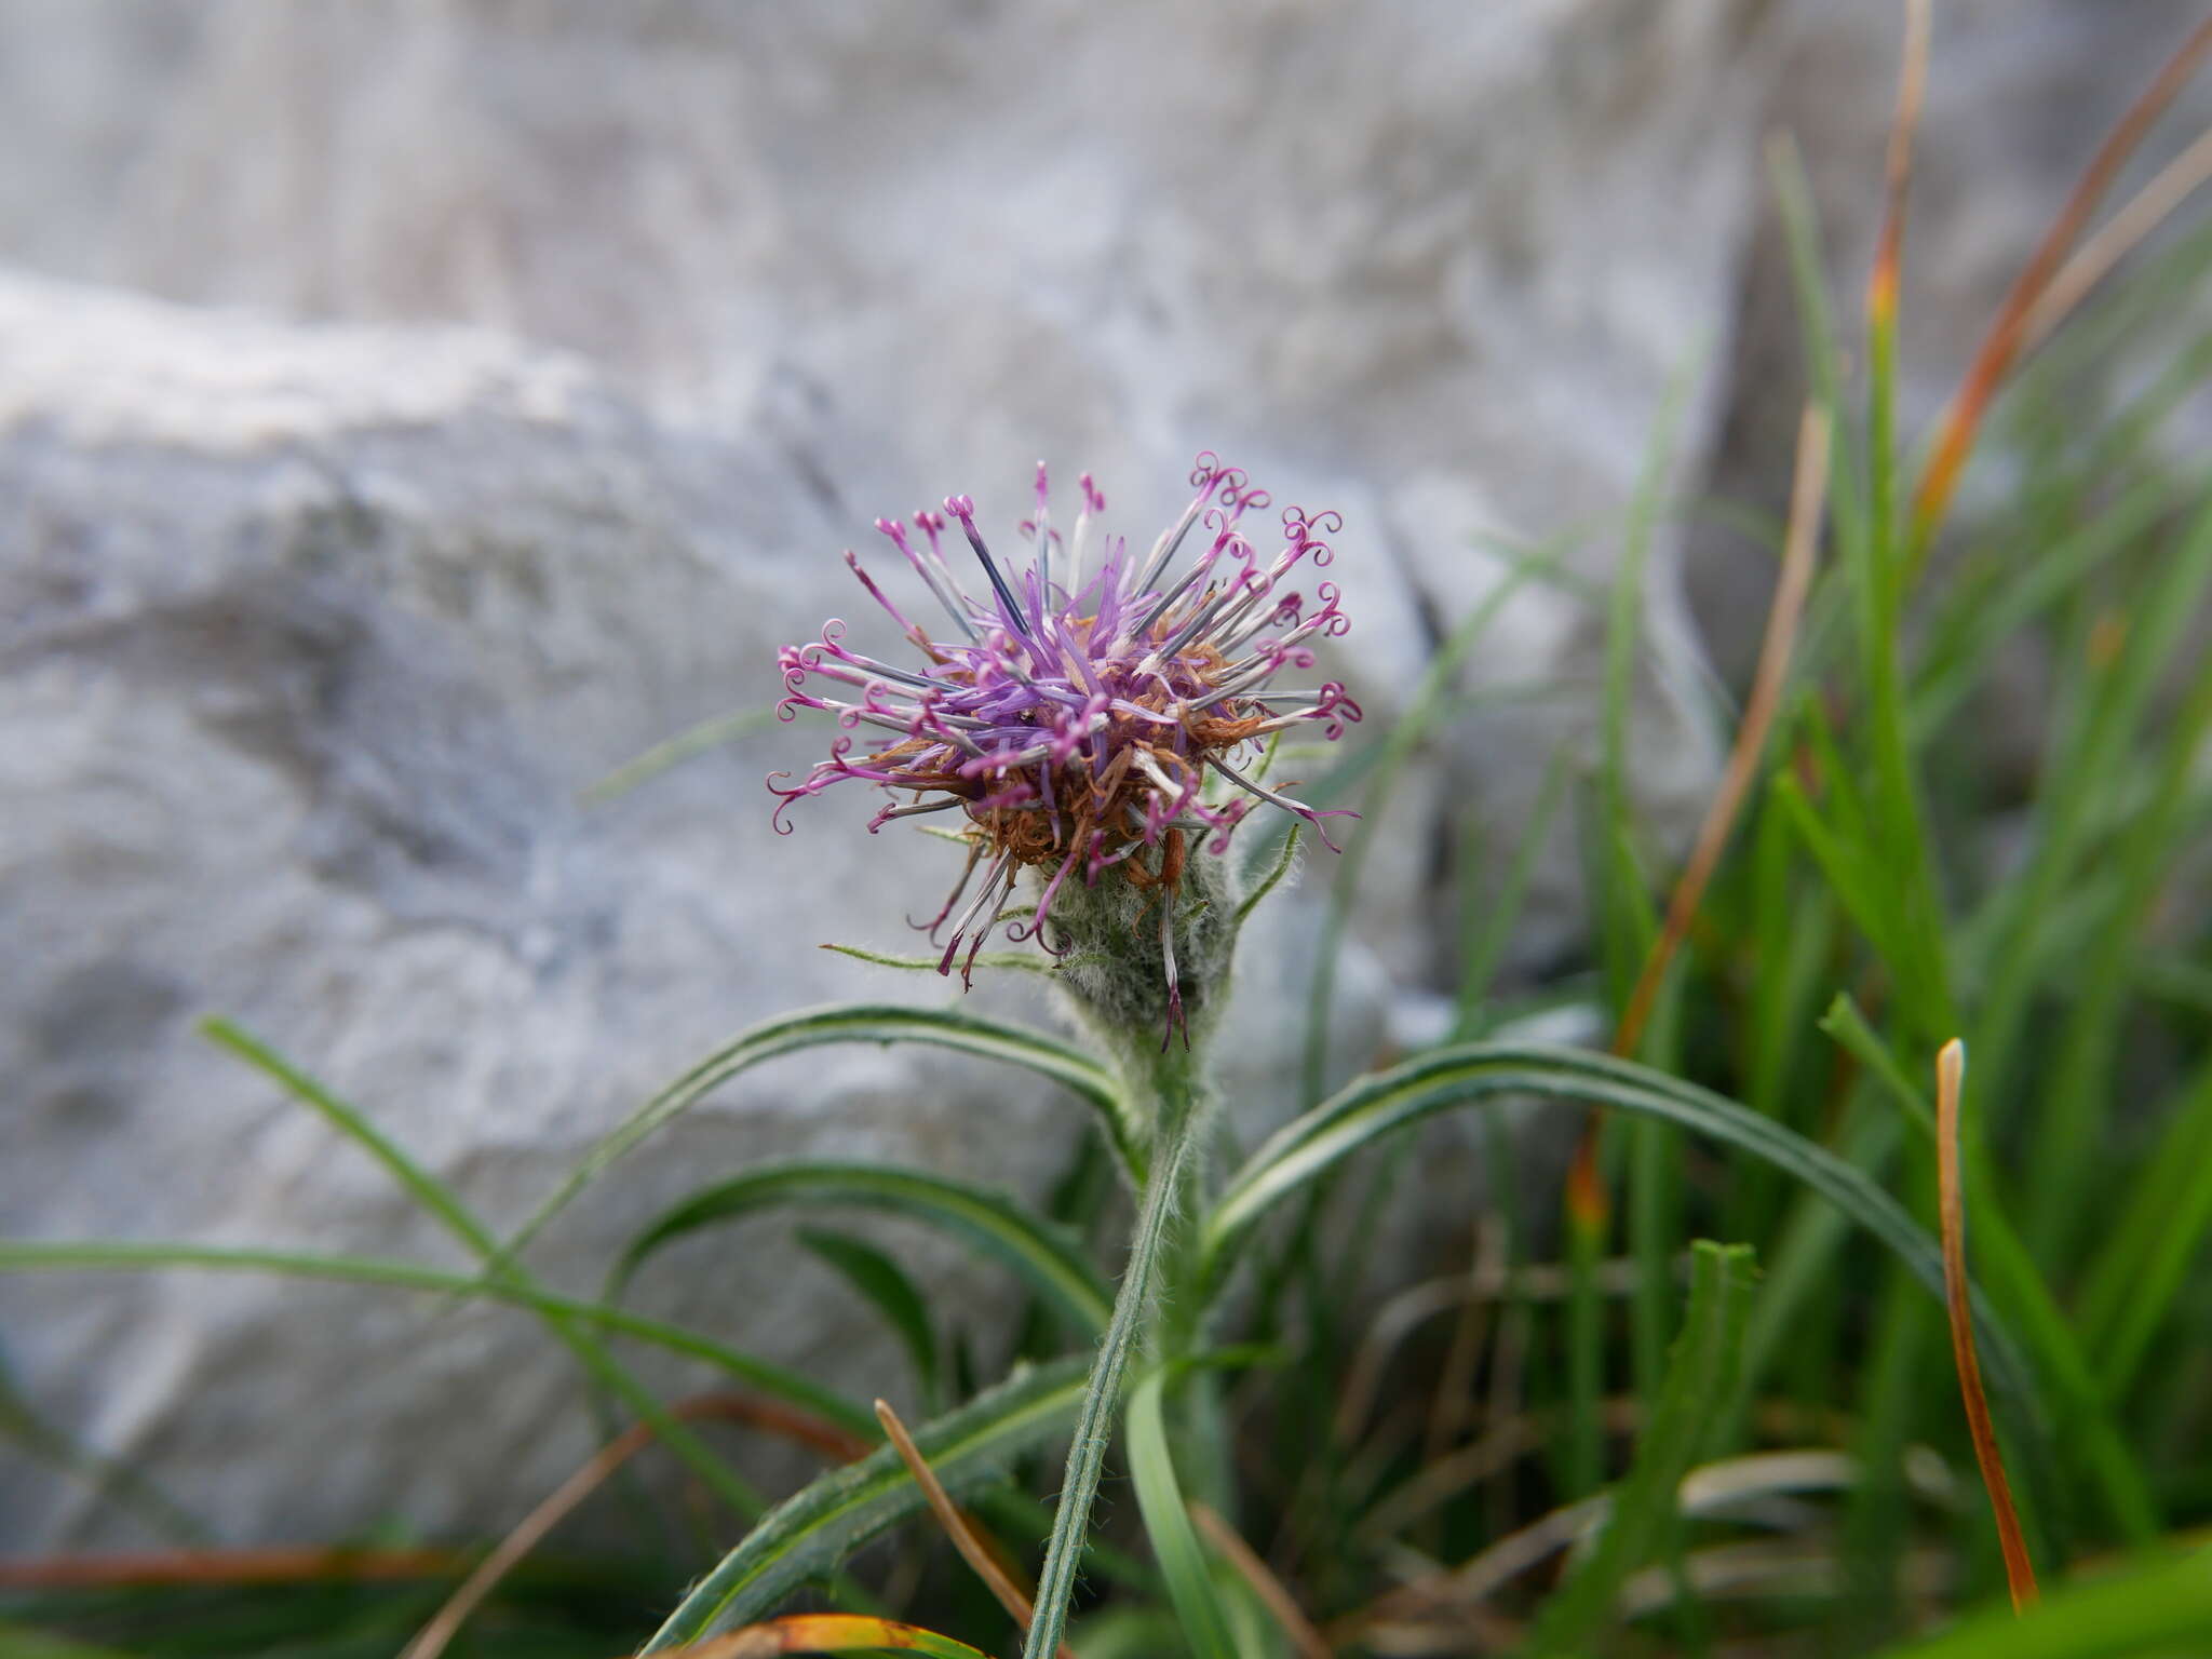
<instances>
[{"instance_id":1,"label":"pale grey rock face behind the flower and grass","mask_svg":"<svg viewBox=\"0 0 2212 1659\"><path fill-rule=\"evenodd\" d=\"M1922 418L2197 7L1938 13ZM1604 584L1670 403L1674 489L1772 502L1796 380L1763 142L1796 135L1849 303L1896 46L1893 7L1832 0L0 0L0 1232L453 1261L192 1033L208 1011L511 1225L743 1024L945 995L814 949L909 949L956 863L867 838L858 801L772 836L759 776L821 730L577 803L770 701L779 641L860 617L836 555L880 511L971 491L1011 524L1044 456L1137 538L1219 449L1345 513L1334 668L1371 737L1500 580L1498 538L1575 531L1571 573ZM1659 549L1637 768L1661 827L1701 805L1763 604L1763 553ZM1588 734L1599 633L1577 584L1528 586L1469 664L1467 690L1542 695L1455 721L1400 792L1345 1064L1451 989L1447 918L1489 880L1458 827L1511 847ZM1292 1106L1325 874L1250 951L1248 1128ZM1515 971L1575 938L1562 845ZM1079 1133L1000 1071L814 1051L624 1166L538 1263L588 1290L748 1159L1037 1192ZM1473 1194L1442 1159L1420 1197ZM978 1321L1006 1294L916 1259ZM648 1281L863 1398L891 1376L772 1230ZM232 1542L495 1526L588 1433L524 1318L383 1292L13 1281L0 1352L53 1429ZM0 1548L137 1537L0 1447Z\"/></svg>"}]
</instances>

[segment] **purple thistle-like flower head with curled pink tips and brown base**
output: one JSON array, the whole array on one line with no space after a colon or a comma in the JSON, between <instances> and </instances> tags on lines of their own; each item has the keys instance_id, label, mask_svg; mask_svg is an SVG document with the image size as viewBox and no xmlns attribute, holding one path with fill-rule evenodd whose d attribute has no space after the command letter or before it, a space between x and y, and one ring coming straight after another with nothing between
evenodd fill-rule
<instances>
[{"instance_id":1,"label":"purple thistle-like flower head with curled pink tips and brown base","mask_svg":"<svg viewBox=\"0 0 2212 1659\"><path fill-rule=\"evenodd\" d=\"M783 814L794 801L849 779L891 794L869 832L929 812L967 818L960 883L936 918L916 922L931 942L951 927L938 973L951 973L967 945L967 982L1024 869L1037 872L1042 891L1026 920L1013 916L1009 938L1037 936L1055 953L1082 931L1060 927L1057 942L1046 933L1055 900L1077 887L1097 891L1113 874L1144 896L1130 916L1161 900L1159 984L1172 1029L1183 1022L1175 898L1199 874L1192 860L1225 854L1254 801L1296 814L1327 841L1323 818L1334 814L1267 787L1256 757L1276 732L1316 726L1334 741L1360 717L1336 681L1318 692L1272 688L1285 668L1314 664L1307 639L1349 626L1336 584L1316 584L1318 606L1290 586L1301 564L1329 564L1323 535L1343 520L1292 507L1281 515L1281 551L1263 560L1241 524L1267 509L1267 493L1212 453L1197 458L1190 482L1197 493L1144 560L1128 555L1124 538L1102 535L1106 498L1091 473L1079 480L1071 533L1053 529L1044 462L1035 518L1020 526L1024 568L991 555L967 495L949 495L942 513L916 513L911 529L878 518L876 529L951 619L949 633L933 637L907 619L847 551L852 573L920 661L900 668L863 657L836 619L818 641L779 653L779 717L818 708L845 728L803 781L768 779L783 796L779 834L790 834ZM973 549L980 593L956 575L964 560L947 557L951 522ZM1179 568L1192 529L1199 551ZM807 690L814 679L852 692L821 697ZM856 754L860 728L883 737ZM982 885L971 894L978 869Z\"/></svg>"}]
</instances>

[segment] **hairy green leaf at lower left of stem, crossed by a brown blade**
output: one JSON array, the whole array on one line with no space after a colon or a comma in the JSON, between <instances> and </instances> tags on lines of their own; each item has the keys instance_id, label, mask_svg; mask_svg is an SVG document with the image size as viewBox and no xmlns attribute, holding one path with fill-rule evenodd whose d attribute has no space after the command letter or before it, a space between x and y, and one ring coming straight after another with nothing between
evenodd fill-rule
<instances>
[{"instance_id":1,"label":"hairy green leaf at lower left of stem, crossed by a brown blade","mask_svg":"<svg viewBox=\"0 0 2212 1659\"><path fill-rule=\"evenodd\" d=\"M1082 1405L1088 1356L1018 1371L971 1402L925 1422L914 1442L953 1495L1004 1473L1006 1464L1068 1431ZM922 1493L891 1447L834 1469L776 1504L684 1597L644 1652L701 1641L774 1610L814 1577L823 1577L885 1526L922 1506Z\"/></svg>"}]
</instances>

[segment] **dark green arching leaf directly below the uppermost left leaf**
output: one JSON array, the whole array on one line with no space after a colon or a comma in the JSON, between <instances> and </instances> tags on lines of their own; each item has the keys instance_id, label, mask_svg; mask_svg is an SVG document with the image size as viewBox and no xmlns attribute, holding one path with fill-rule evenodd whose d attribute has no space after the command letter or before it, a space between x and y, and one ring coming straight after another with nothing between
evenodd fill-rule
<instances>
[{"instance_id":1,"label":"dark green arching leaf directly below the uppermost left leaf","mask_svg":"<svg viewBox=\"0 0 2212 1659\"><path fill-rule=\"evenodd\" d=\"M765 1164L670 1206L622 1252L606 1301L619 1301L630 1276L664 1245L783 1203L860 1206L945 1228L1013 1267L1086 1336L1102 1332L1113 1310L1113 1292L1075 1234L1033 1217L1009 1194L949 1175L836 1161Z\"/></svg>"}]
</instances>

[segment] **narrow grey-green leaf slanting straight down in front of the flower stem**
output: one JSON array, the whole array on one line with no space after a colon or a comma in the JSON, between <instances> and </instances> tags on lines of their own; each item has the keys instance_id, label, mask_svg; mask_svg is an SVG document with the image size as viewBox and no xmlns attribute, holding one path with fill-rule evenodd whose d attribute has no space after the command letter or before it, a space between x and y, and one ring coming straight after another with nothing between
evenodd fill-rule
<instances>
[{"instance_id":1,"label":"narrow grey-green leaf slanting straight down in front of the flower stem","mask_svg":"<svg viewBox=\"0 0 2212 1659\"><path fill-rule=\"evenodd\" d=\"M1144 1336L1146 1312L1159 1279L1161 1243L1175 1219L1183 1186L1183 1166L1199 1137L1199 1091L1192 1062L1166 1055L1152 1066L1155 1133L1152 1168L1137 1210L1137 1230L1128 1243L1128 1267L1115 1292L1113 1318L1099 1356L1091 1367L1084 1409L1075 1418L1075 1440L1068 1447L1068 1471L1060 1482L1060 1506L1053 1511L1053 1537L1044 1548L1044 1573L1037 1577L1037 1615L1029 1626L1022 1659L1051 1659L1060 1650L1068 1624L1068 1599L1075 1595L1075 1571L1082 1564L1084 1537L1091 1531L1091 1502L1097 1498L1106 1449L1113 1444L1115 1411L1121 1402L1121 1374Z\"/></svg>"}]
</instances>

